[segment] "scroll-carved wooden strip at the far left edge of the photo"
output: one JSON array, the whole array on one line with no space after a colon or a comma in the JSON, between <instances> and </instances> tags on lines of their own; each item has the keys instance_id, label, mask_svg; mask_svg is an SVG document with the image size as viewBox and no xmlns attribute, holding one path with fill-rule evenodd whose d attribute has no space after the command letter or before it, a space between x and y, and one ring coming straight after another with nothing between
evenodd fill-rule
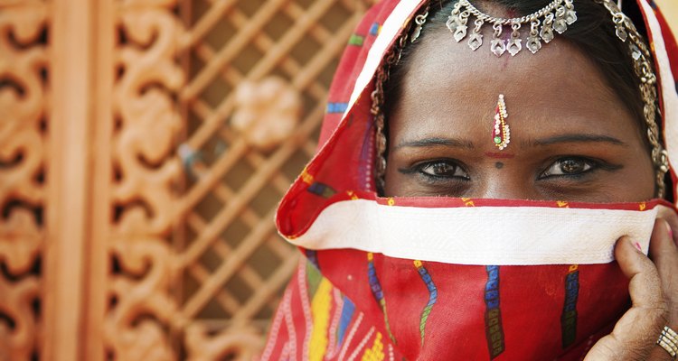
<instances>
[{"instance_id":1,"label":"scroll-carved wooden strip at the far left edge of the photo","mask_svg":"<svg viewBox=\"0 0 678 361\"><path fill-rule=\"evenodd\" d=\"M0 359L39 354L47 48L42 2L0 3Z\"/></svg>"}]
</instances>

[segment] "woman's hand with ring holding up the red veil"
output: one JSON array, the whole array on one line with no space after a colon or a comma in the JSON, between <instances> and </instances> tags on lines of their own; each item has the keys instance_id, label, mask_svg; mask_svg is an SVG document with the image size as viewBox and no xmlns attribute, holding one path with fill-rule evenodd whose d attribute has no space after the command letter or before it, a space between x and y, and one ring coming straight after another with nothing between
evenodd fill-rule
<instances>
[{"instance_id":1,"label":"woman's hand with ring holding up the red veil","mask_svg":"<svg viewBox=\"0 0 678 361\"><path fill-rule=\"evenodd\" d=\"M673 210L660 211L659 217L650 239L650 258L630 238L617 240L615 257L630 280L633 304L585 361L673 360L656 340L664 326L678 329L678 246L673 239L678 234L672 232L678 230L678 217Z\"/></svg>"}]
</instances>

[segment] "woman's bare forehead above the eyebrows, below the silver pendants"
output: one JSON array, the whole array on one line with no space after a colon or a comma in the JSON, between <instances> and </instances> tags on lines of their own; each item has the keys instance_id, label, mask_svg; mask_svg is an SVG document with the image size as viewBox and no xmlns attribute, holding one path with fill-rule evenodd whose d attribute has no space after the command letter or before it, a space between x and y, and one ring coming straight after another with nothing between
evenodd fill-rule
<instances>
[{"instance_id":1,"label":"woman's bare forehead above the eyebrows, below the silver pendants","mask_svg":"<svg viewBox=\"0 0 678 361\"><path fill-rule=\"evenodd\" d=\"M473 125L485 129L503 94L521 138L559 133L617 134L629 142L639 138L628 108L593 62L567 41L553 41L537 54L497 58L489 51L469 50L449 32L428 35L404 65L400 98L392 100L389 122L395 132L443 135L471 131Z\"/></svg>"}]
</instances>

